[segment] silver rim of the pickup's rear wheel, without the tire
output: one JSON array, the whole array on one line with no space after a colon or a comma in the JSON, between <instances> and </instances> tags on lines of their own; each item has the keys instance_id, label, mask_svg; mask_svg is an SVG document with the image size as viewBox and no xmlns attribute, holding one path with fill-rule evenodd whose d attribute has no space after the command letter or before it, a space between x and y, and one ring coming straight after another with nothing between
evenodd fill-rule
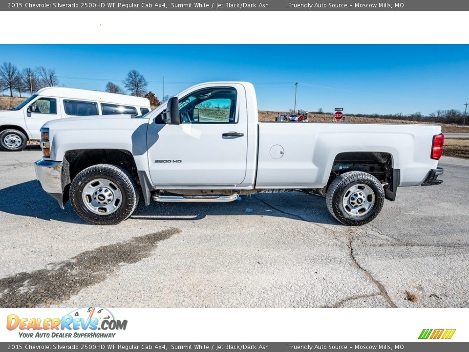
<instances>
[{"instance_id":1,"label":"silver rim of the pickup's rear wheel, without the tire","mask_svg":"<svg viewBox=\"0 0 469 352\"><path fill-rule=\"evenodd\" d=\"M342 205L345 212L353 217L367 214L375 204L373 189L363 183L352 185L345 191Z\"/></svg>"}]
</instances>

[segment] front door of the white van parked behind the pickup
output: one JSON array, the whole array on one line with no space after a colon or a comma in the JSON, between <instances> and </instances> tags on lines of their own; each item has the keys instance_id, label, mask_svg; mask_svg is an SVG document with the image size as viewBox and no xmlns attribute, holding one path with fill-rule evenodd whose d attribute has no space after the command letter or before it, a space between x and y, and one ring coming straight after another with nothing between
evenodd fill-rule
<instances>
[{"instance_id":1,"label":"front door of the white van parked behind the pickup","mask_svg":"<svg viewBox=\"0 0 469 352\"><path fill-rule=\"evenodd\" d=\"M40 97L24 110L24 122L31 133L31 139L41 139L41 127L47 121L60 118L58 102L56 98Z\"/></svg>"}]
</instances>

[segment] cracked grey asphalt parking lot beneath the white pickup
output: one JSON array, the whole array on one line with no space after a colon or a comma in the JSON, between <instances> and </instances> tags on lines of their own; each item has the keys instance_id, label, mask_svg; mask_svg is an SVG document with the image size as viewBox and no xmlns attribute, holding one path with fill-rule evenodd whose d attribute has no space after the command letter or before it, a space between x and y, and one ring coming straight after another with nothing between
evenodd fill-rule
<instances>
[{"instance_id":1,"label":"cracked grey asphalt parking lot beneath the white pickup","mask_svg":"<svg viewBox=\"0 0 469 352\"><path fill-rule=\"evenodd\" d=\"M295 193L93 226L43 193L40 155L0 152L1 307L469 307L469 160L362 227Z\"/></svg>"}]
</instances>

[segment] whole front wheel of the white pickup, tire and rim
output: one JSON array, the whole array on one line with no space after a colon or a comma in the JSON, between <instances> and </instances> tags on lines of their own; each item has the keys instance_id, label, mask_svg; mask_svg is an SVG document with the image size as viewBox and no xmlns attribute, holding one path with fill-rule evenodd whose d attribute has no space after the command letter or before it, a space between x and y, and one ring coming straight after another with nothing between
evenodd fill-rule
<instances>
[{"instance_id":1,"label":"whole front wheel of the white pickup, tire and rim","mask_svg":"<svg viewBox=\"0 0 469 352\"><path fill-rule=\"evenodd\" d=\"M116 225L138 204L139 190L127 170L110 164L81 171L70 185L70 202L78 216L94 225Z\"/></svg>"}]
</instances>

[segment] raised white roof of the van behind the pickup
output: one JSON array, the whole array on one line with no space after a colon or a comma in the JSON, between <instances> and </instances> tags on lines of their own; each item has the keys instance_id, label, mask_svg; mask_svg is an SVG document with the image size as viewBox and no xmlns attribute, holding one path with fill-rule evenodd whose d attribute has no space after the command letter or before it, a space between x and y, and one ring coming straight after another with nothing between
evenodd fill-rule
<instances>
[{"instance_id":1,"label":"raised white roof of the van behind the pickup","mask_svg":"<svg viewBox=\"0 0 469 352\"><path fill-rule=\"evenodd\" d=\"M37 92L40 96L51 96L57 98L68 98L68 99L85 99L102 101L103 103L115 103L115 104L128 104L137 105L142 107L149 107L150 102L147 98L135 97L125 94L114 94L101 92L97 90L86 90L76 88L64 88L64 87L45 87L39 89Z\"/></svg>"}]
</instances>

